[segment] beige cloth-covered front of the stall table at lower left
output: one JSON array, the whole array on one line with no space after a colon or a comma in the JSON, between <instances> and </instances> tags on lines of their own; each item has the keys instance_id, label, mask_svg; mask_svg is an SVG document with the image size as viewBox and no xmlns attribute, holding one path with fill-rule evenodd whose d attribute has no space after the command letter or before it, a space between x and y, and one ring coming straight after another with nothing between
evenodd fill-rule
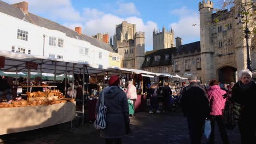
<instances>
[{"instance_id":1,"label":"beige cloth-covered front of the stall table at lower left","mask_svg":"<svg viewBox=\"0 0 256 144\"><path fill-rule=\"evenodd\" d=\"M25 107L0 108L0 135L33 130L72 121L75 101Z\"/></svg>"}]
</instances>

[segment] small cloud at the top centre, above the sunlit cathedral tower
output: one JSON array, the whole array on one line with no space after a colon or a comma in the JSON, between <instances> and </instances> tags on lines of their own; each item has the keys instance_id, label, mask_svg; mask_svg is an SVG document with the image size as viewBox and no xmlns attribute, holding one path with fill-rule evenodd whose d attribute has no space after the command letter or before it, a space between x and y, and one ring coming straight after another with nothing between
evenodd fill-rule
<instances>
[{"instance_id":1,"label":"small cloud at the top centre, above the sunlit cathedral tower","mask_svg":"<svg viewBox=\"0 0 256 144\"><path fill-rule=\"evenodd\" d=\"M133 3L121 3L118 2L119 9L116 11L117 14L121 15L139 15L139 11L137 10L135 4Z\"/></svg>"}]
</instances>

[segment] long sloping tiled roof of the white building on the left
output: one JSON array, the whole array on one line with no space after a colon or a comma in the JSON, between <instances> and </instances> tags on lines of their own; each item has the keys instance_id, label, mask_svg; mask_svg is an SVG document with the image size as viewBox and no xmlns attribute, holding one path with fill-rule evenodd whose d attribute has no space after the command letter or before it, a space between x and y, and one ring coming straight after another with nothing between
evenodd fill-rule
<instances>
[{"instance_id":1,"label":"long sloping tiled roof of the white building on the left","mask_svg":"<svg viewBox=\"0 0 256 144\"><path fill-rule=\"evenodd\" d=\"M60 25L59 23L50 21L48 19L44 19L43 17L34 15L32 13L25 14L22 10L14 7L13 5L10 5L8 3L5 3L3 1L0 1L0 12L16 17L18 19L24 20L33 23L34 25L45 27L48 29L53 29L56 31L60 31L63 33L66 33L67 37L79 39L79 40L85 40L91 43L94 46L100 47L101 49L114 52L112 46L110 44L104 43L103 41L100 41L98 39L89 37L88 35L82 34L79 35L76 31L69 29L65 26Z\"/></svg>"}]
</instances>

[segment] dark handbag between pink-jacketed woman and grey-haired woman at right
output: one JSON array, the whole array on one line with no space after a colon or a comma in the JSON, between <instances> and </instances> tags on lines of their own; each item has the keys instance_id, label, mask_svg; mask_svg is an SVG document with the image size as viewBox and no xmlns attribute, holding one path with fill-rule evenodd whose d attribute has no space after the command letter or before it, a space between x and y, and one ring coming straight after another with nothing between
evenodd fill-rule
<instances>
[{"instance_id":1,"label":"dark handbag between pink-jacketed woman and grey-haired woman at right","mask_svg":"<svg viewBox=\"0 0 256 144\"><path fill-rule=\"evenodd\" d=\"M232 130L236 127L237 121L240 117L241 106L237 103L232 103L227 100L223 111L223 122L228 130Z\"/></svg>"}]
</instances>

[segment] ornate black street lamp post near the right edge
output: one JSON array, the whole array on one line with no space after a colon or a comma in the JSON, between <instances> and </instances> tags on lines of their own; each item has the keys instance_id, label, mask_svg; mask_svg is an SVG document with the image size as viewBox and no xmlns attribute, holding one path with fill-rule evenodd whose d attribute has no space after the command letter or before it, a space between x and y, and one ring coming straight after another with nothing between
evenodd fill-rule
<instances>
[{"instance_id":1,"label":"ornate black street lamp post near the right edge","mask_svg":"<svg viewBox=\"0 0 256 144\"><path fill-rule=\"evenodd\" d=\"M250 52L249 52L249 44L248 44L248 39L249 39L249 28L248 28L248 19L247 19L247 15L249 14L249 10L252 9L252 8L255 8L255 2L252 1L252 6L251 7L248 7L246 9L246 6L247 6L247 1L245 2L245 7L243 5L241 5L241 7L238 9L239 13L237 14L237 17L235 19L238 19L238 23L237 25L239 24L243 24L245 23L246 24L246 28L245 28L245 38L246 38L246 52L247 52L247 69L249 69L250 71L252 71L252 62L251 62L251 59L250 59ZM245 16L243 16L245 15ZM245 17L245 22L242 21L243 17Z\"/></svg>"}]
</instances>

